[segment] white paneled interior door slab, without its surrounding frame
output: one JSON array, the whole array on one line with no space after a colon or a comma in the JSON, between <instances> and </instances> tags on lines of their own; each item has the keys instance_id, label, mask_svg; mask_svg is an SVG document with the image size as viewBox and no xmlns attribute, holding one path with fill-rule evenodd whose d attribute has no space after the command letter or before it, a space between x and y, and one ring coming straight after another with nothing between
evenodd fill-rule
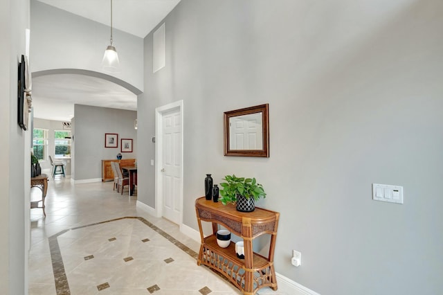
<instances>
[{"instance_id":1,"label":"white paneled interior door slab, without its surrounding frame","mask_svg":"<svg viewBox=\"0 0 443 295\"><path fill-rule=\"evenodd\" d=\"M181 223L182 202L182 134L181 109L162 114L161 199L165 218Z\"/></svg>"}]
</instances>

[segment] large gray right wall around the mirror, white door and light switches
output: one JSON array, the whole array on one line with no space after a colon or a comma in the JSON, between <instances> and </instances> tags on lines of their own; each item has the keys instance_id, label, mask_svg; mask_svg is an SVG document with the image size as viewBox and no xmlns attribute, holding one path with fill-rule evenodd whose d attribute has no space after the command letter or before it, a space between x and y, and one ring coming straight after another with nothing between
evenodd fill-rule
<instances>
[{"instance_id":1,"label":"large gray right wall around the mirror, white door and light switches","mask_svg":"<svg viewBox=\"0 0 443 295\"><path fill-rule=\"evenodd\" d=\"M184 223L206 173L256 177L280 274L320 294L442 294L443 2L183 0L138 99L138 200L155 206L154 109L184 100ZM223 112L269 102L269 159L224 157ZM404 204L372 200L404 186ZM292 267L292 249L302 266Z\"/></svg>"}]
</instances>

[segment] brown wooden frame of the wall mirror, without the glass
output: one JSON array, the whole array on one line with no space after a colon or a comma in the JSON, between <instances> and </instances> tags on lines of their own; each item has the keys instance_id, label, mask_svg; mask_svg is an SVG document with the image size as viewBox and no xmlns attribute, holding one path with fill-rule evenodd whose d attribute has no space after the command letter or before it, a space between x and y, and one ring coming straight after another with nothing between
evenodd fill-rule
<instances>
[{"instance_id":1,"label":"brown wooden frame of the wall mirror, without the glass","mask_svg":"<svg viewBox=\"0 0 443 295\"><path fill-rule=\"evenodd\" d=\"M236 116L262 113L262 150L231 150L229 119ZM224 155L235 157L265 157L269 158L269 105L256 105L244 109L224 112Z\"/></svg>"}]
</instances>

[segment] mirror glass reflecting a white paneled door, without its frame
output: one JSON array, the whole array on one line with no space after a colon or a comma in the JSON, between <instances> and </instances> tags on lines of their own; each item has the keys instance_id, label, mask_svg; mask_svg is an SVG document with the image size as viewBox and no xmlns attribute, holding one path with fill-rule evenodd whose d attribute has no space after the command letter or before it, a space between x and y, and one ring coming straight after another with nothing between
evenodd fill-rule
<instances>
[{"instance_id":1,"label":"mirror glass reflecting a white paneled door, without its frame","mask_svg":"<svg viewBox=\"0 0 443 295\"><path fill-rule=\"evenodd\" d=\"M230 150L262 150L262 113L229 118Z\"/></svg>"}]
</instances>

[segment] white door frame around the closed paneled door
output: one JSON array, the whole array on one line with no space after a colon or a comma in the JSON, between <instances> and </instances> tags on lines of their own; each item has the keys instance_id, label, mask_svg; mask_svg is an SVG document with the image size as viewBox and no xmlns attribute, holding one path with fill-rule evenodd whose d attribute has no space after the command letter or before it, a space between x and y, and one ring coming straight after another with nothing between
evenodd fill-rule
<instances>
[{"instance_id":1,"label":"white door frame around the closed paneled door","mask_svg":"<svg viewBox=\"0 0 443 295\"><path fill-rule=\"evenodd\" d=\"M180 226L183 223L183 100L172 102L155 109L155 211L156 217L163 216L163 173L161 161L163 159L163 114L174 109L179 109L181 120L181 178L180 178Z\"/></svg>"}]
</instances>

